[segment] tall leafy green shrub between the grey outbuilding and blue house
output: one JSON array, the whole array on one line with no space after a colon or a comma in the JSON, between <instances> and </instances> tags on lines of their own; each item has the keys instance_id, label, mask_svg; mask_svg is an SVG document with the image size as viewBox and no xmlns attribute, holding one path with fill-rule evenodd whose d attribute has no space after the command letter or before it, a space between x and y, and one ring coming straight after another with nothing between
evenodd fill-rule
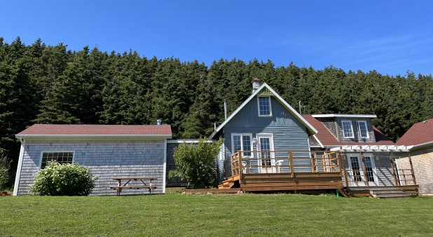
<instances>
[{"instance_id":1,"label":"tall leafy green shrub between the grey outbuilding and blue house","mask_svg":"<svg viewBox=\"0 0 433 237\"><path fill-rule=\"evenodd\" d=\"M222 143L221 139L214 143L200 139L198 144L180 144L173 154L176 170L170 170L169 177L191 182L195 189L213 187L217 181L214 162Z\"/></svg>"}]
</instances>

